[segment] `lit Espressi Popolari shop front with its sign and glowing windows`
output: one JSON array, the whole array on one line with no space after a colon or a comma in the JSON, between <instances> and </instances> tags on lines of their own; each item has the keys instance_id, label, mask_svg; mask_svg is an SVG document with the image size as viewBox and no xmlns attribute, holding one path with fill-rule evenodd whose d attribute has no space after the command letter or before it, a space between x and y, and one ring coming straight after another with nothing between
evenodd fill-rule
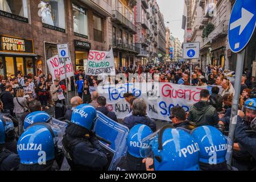
<instances>
[{"instance_id":1,"label":"lit Espressi Popolari shop front with its sign and glowing windows","mask_svg":"<svg viewBox=\"0 0 256 182\"><path fill-rule=\"evenodd\" d=\"M33 40L0 35L0 45L0 78L36 74Z\"/></svg>"}]
</instances>

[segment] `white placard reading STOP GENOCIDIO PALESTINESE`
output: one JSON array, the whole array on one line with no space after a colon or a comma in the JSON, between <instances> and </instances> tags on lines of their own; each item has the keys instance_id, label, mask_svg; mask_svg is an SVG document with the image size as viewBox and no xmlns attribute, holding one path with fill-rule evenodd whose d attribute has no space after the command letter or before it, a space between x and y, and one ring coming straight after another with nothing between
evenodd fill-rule
<instances>
[{"instance_id":1,"label":"white placard reading STOP GENOCIDIO PALESTINESE","mask_svg":"<svg viewBox=\"0 0 256 182\"><path fill-rule=\"evenodd\" d=\"M86 75L115 76L113 48L106 51L90 51L86 66Z\"/></svg>"}]
</instances>

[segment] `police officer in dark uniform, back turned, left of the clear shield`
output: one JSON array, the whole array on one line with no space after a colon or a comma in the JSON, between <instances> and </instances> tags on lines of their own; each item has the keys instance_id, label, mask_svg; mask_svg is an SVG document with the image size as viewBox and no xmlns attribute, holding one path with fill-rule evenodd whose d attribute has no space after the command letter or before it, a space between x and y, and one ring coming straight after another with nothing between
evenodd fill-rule
<instances>
[{"instance_id":1,"label":"police officer in dark uniform, back turned, left of the clear shield","mask_svg":"<svg viewBox=\"0 0 256 182\"><path fill-rule=\"evenodd\" d=\"M97 112L89 104L79 105L73 110L71 123L63 137L63 152L71 170L104 170L108 157L92 133Z\"/></svg>"}]
</instances>

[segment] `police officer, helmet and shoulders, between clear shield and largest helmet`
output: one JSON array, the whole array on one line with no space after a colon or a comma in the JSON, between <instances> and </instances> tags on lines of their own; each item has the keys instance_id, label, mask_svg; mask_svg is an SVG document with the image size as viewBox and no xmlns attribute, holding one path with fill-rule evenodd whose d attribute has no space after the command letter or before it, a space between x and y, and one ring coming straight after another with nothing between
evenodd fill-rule
<instances>
[{"instance_id":1,"label":"police officer, helmet and shoulders, between clear shield and largest helmet","mask_svg":"<svg viewBox=\"0 0 256 182\"><path fill-rule=\"evenodd\" d=\"M117 165L117 171L146 171L143 158L139 152L142 146L141 140L152 134L150 127L146 125L135 125L127 136L127 155L124 156Z\"/></svg>"}]
</instances>

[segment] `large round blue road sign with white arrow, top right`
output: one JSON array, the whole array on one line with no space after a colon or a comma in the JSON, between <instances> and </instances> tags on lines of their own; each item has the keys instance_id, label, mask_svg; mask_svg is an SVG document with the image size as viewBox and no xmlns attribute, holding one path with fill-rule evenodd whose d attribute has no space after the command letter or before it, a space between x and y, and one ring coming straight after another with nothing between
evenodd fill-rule
<instances>
[{"instance_id":1,"label":"large round blue road sign with white arrow, top right","mask_svg":"<svg viewBox=\"0 0 256 182\"><path fill-rule=\"evenodd\" d=\"M242 51L249 43L256 26L256 1L237 0L229 21L229 47Z\"/></svg>"}]
</instances>

